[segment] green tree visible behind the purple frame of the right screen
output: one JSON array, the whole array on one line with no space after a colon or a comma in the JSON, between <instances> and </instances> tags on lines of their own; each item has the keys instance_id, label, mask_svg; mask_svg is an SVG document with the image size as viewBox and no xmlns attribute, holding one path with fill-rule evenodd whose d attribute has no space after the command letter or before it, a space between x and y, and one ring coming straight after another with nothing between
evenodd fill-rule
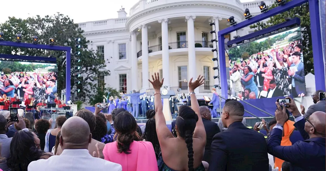
<instances>
[{"instance_id":1,"label":"green tree visible behind the purple frame of the right screen","mask_svg":"<svg viewBox=\"0 0 326 171\"><path fill-rule=\"evenodd\" d=\"M289 2L290 0L286 0ZM272 4L269 9L277 7L276 3ZM312 44L311 44L311 29L310 29L310 14L309 14L309 4L305 3L301 6L294 7L286 12L275 15L271 17L266 22L257 22L250 26L250 28L255 28L257 30L265 29L270 26L282 23L286 21L286 18L295 18L298 17L301 20L301 34L302 34L302 46L304 54L304 70L308 74L311 72L314 74L314 61L312 55Z\"/></svg>"}]
</instances>

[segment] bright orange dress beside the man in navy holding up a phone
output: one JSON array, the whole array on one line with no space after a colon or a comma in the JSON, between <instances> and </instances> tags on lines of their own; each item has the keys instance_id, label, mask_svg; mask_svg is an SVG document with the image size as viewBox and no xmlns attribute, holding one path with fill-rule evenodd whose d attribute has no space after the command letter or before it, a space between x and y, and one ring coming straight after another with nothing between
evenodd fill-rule
<instances>
[{"instance_id":1,"label":"bright orange dress beside the man in navy holding up a phone","mask_svg":"<svg viewBox=\"0 0 326 171\"><path fill-rule=\"evenodd\" d=\"M294 126L293 126L294 122L293 121L286 121L284 123L283 126L283 130L284 130L284 136L282 137L281 140L281 146L291 146L292 142L290 141L290 135L292 134L292 132L294 131ZM275 163L274 163L274 168L278 167L278 171L281 171L282 168L282 164L283 164L284 160L281 160L279 158L275 157Z\"/></svg>"}]
</instances>

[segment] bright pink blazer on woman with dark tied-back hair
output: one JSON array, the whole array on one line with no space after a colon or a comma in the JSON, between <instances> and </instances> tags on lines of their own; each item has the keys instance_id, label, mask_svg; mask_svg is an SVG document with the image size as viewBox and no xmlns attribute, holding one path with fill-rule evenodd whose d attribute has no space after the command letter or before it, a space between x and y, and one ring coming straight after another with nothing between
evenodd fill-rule
<instances>
[{"instance_id":1,"label":"bright pink blazer on woman with dark tied-back hair","mask_svg":"<svg viewBox=\"0 0 326 171\"><path fill-rule=\"evenodd\" d=\"M130 144L131 153L118 153L117 142L104 146L104 159L121 164L123 171L158 171L153 144L148 141L133 141Z\"/></svg>"}]
</instances>

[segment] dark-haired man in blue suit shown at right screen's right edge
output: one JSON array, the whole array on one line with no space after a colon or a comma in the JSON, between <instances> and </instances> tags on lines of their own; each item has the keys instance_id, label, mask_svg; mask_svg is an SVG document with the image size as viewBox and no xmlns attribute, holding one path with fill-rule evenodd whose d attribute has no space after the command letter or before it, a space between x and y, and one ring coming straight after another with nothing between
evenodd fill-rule
<instances>
[{"instance_id":1,"label":"dark-haired man in blue suit shown at right screen's right edge","mask_svg":"<svg viewBox=\"0 0 326 171\"><path fill-rule=\"evenodd\" d=\"M300 62L300 56L300 52L294 52L292 54L292 64L288 70L289 77L292 77L292 95L294 97L297 97L301 93L305 94L304 63Z\"/></svg>"}]
</instances>

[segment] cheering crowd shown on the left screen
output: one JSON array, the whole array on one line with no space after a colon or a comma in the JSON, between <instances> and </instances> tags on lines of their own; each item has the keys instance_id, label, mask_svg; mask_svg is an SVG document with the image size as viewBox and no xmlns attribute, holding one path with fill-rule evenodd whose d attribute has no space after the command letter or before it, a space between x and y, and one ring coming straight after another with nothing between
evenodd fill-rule
<instances>
[{"instance_id":1,"label":"cheering crowd shown on the left screen","mask_svg":"<svg viewBox=\"0 0 326 171\"><path fill-rule=\"evenodd\" d=\"M19 102L15 103L14 107L26 107L28 111L31 110L31 107L28 106L37 104L55 107L57 79L58 76L55 72L46 74L12 72L8 75L2 73L0 77L0 102L4 103L0 104L0 110L8 110L8 106L13 102Z\"/></svg>"}]
</instances>

